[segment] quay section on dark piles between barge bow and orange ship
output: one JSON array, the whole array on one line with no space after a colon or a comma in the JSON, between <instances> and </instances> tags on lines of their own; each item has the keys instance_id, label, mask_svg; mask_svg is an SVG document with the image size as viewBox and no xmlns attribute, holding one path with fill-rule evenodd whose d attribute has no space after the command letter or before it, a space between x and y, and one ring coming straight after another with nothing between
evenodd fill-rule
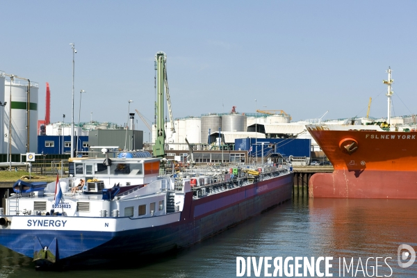
<instances>
[{"instance_id":1,"label":"quay section on dark piles between barge bow and orange ship","mask_svg":"<svg viewBox=\"0 0 417 278\"><path fill-rule=\"evenodd\" d=\"M309 195L309 181L311 176L316 173L332 173L333 166L293 166L293 172L293 197L304 197Z\"/></svg>"}]
</instances>

